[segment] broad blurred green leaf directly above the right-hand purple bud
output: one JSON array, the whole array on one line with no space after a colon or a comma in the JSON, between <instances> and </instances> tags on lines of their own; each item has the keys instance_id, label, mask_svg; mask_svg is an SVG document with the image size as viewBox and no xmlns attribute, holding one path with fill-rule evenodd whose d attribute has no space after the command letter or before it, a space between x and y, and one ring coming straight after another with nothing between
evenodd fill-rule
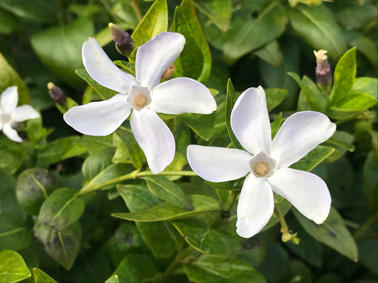
<instances>
[{"instance_id":1,"label":"broad blurred green leaf directly above the right-hand purple bud","mask_svg":"<svg viewBox=\"0 0 378 283\"><path fill-rule=\"evenodd\" d=\"M325 5L290 8L289 19L296 33L317 50L327 50L333 59L345 52L345 40L338 23Z\"/></svg>"}]
</instances>

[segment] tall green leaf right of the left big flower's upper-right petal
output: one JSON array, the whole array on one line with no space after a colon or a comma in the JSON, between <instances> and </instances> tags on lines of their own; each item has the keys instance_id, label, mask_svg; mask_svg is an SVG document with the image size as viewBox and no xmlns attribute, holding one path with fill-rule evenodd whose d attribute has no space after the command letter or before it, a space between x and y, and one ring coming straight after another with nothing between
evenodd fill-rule
<instances>
[{"instance_id":1,"label":"tall green leaf right of the left big flower's upper-right petal","mask_svg":"<svg viewBox=\"0 0 378 283\"><path fill-rule=\"evenodd\" d=\"M181 33L187 40L178 59L182 67L181 76L204 83L210 75L211 54L191 0L182 1L174 10L171 30Z\"/></svg>"}]
</instances>

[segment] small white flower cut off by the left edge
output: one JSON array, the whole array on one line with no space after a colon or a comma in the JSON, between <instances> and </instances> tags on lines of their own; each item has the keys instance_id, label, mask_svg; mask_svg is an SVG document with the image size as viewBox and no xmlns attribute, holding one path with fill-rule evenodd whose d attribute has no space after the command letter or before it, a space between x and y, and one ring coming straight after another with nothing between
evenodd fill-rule
<instances>
[{"instance_id":1,"label":"small white flower cut off by the left edge","mask_svg":"<svg viewBox=\"0 0 378 283\"><path fill-rule=\"evenodd\" d=\"M38 118L40 115L30 105L16 107L17 102L17 86L10 86L1 93L0 129L2 129L6 137L9 137L12 141L21 142L21 137L18 136L16 129L13 129L12 125L16 125L17 122Z\"/></svg>"}]
</instances>

